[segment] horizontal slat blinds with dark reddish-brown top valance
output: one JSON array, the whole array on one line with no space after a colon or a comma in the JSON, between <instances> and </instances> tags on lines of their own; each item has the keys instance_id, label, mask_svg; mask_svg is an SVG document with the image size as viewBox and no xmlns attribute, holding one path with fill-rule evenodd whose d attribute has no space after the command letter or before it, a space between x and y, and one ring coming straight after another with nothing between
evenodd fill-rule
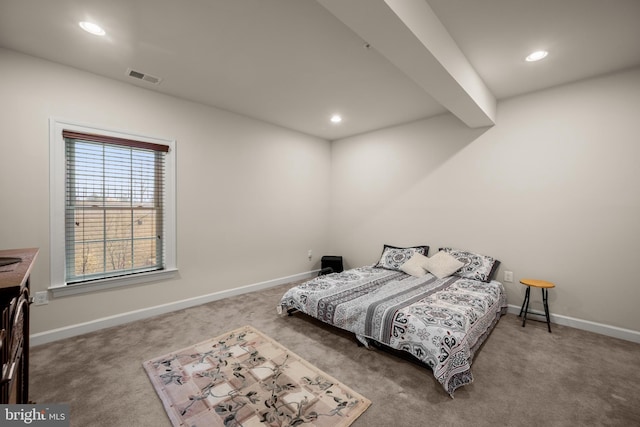
<instances>
[{"instance_id":1,"label":"horizontal slat blinds with dark reddish-brown top valance","mask_svg":"<svg viewBox=\"0 0 640 427\"><path fill-rule=\"evenodd\" d=\"M164 268L166 145L64 130L66 283Z\"/></svg>"}]
</instances>

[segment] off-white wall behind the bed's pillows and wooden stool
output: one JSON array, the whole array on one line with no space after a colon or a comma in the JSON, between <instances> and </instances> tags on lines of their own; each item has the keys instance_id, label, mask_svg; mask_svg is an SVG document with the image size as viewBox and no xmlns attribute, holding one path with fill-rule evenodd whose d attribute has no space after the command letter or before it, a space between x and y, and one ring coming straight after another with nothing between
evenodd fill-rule
<instances>
[{"instance_id":1,"label":"off-white wall behind the bed's pillows and wooden stool","mask_svg":"<svg viewBox=\"0 0 640 427\"><path fill-rule=\"evenodd\" d=\"M510 304L545 279L552 313L640 331L639 113L635 69L502 101L492 128L443 115L334 141L332 250L493 255Z\"/></svg>"}]
</instances>

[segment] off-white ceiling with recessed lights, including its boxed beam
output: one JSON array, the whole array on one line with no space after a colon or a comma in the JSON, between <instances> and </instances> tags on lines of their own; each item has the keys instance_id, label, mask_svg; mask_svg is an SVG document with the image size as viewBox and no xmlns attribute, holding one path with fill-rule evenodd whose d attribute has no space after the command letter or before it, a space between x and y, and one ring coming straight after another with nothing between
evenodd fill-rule
<instances>
[{"instance_id":1,"label":"off-white ceiling with recessed lights, including its boxed beam","mask_svg":"<svg viewBox=\"0 0 640 427\"><path fill-rule=\"evenodd\" d=\"M0 0L0 46L335 140L639 66L640 0Z\"/></svg>"}]
</instances>

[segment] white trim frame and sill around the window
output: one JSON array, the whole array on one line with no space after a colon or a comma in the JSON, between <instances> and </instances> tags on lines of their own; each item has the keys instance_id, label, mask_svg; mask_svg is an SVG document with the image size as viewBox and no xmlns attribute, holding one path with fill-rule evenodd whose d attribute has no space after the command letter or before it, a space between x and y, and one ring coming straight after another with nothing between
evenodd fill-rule
<instances>
[{"instance_id":1,"label":"white trim frame and sill around the window","mask_svg":"<svg viewBox=\"0 0 640 427\"><path fill-rule=\"evenodd\" d=\"M67 285L65 282L65 141L62 130L94 133L117 138L164 144L169 146L165 159L165 269L124 277L110 277L87 283ZM177 267L176 239L176 141L99 128L77 122L49 119L49 217L51 249L51 286L54 297L155 282L174 277Z\"/></svg>"}]
</instances>

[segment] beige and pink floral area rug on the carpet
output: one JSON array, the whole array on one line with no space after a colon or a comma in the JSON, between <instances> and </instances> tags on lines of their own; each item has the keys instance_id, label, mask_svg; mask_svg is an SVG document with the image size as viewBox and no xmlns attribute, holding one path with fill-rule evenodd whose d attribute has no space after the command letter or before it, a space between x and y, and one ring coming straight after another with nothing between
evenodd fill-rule
<instances>
[{"instance_id":1,"label":"beige and pink floral area rug on the carpet","mask_svg":"<svg viewBox=\"0 0 640 427\"><path fill-rule=\"evenodd\" d=\"M348 426L371 404L251 326L143 366L174 426Z\"/></svg>"}]
</instances>

